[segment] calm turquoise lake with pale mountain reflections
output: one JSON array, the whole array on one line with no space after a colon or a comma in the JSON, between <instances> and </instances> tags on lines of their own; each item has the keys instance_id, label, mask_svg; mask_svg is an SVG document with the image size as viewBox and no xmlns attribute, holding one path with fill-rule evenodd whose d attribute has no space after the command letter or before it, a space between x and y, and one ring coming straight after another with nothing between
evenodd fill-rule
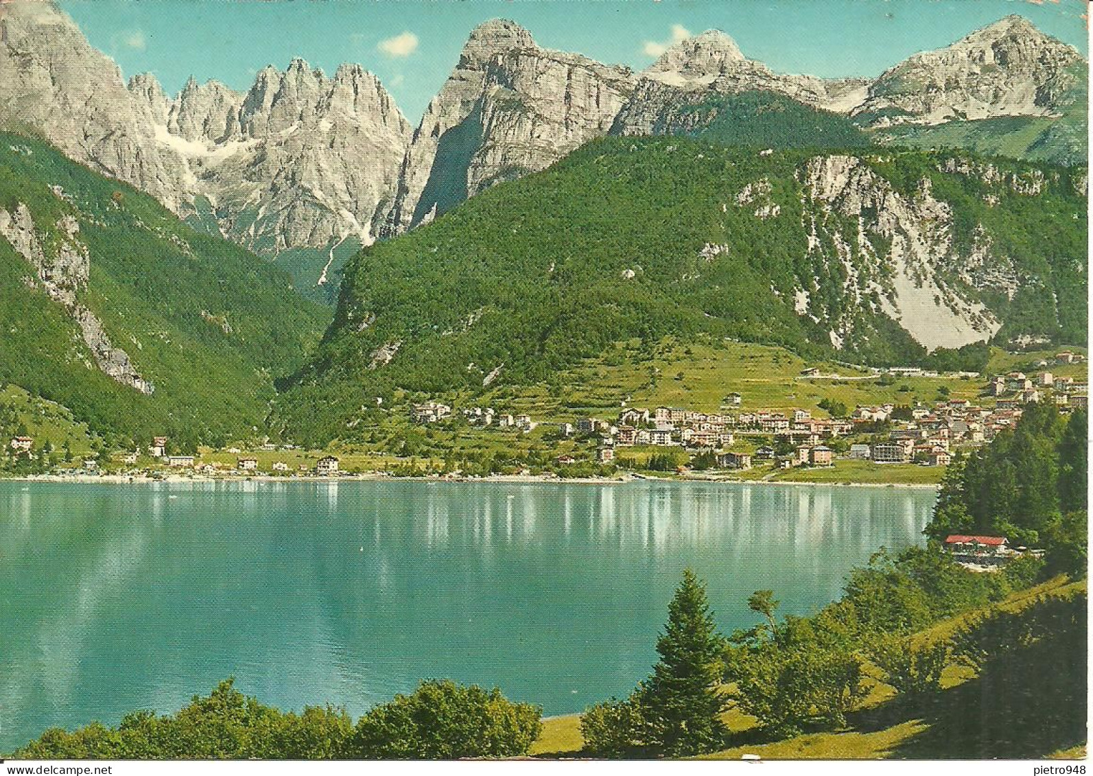
<instances>
[{"instance_id":1,"label":"calm turquoise lake with pale mountain reflections","mask_svg":"<svg viewBox=\"0 0 1093 776\"><path fill-rule=\"evenodd\" d=\"M0 482L0 751L177 710L234 675L359 716L421 679L544 714L623 696L690 566L722 632L748 596L838 598L920 544L931 490L635 482Z\"/></svg>"}]
</instances>

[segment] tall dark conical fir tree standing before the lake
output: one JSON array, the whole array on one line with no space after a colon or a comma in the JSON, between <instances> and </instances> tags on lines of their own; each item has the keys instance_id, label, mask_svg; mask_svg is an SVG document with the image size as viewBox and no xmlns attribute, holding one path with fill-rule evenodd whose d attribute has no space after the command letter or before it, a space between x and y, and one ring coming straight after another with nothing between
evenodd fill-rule
<instances>
[{"instance_id":1,"label":"tall dark conical fir tree standing before the lake","mask_svg":"<svg viewBox=\"0 0 1093 776\"><path fill-rule=\"evenodd\" d=\"M726 704L720 693L722 644L705 585L684 571L657 639L660 660L639 691L649 743L661 754L698 754L721 743L727 732L720 718Z\"/></svg>"}]
</instances>

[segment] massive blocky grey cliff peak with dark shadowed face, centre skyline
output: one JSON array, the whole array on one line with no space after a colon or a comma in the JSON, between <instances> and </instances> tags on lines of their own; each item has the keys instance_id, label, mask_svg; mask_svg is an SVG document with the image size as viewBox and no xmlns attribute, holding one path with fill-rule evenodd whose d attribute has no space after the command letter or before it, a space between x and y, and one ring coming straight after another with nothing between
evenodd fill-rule
<instances>
[{"instance_id":1,"label":"massive blocky grey cliff peak with dark shadowed face, centre skyline","mask_svg":"<svg viewBox=\"0 0 1093 776\"><path fill-rule=\"evenodd\" d=\"M633 83L627 68L540 48L514 22L480 25L413 134L387 232L606 134Z\"/></svg>"}]
</instances>

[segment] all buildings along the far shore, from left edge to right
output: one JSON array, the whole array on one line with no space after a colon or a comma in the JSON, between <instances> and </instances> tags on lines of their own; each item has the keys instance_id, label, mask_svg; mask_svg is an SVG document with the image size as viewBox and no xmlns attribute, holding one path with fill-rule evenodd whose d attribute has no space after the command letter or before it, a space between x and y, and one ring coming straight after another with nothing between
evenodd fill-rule
<instances>
[{"instance_id":1,"label":"all buildings along the far shore, from left edge to right","mask_svg":"<svg viewBox=\"0 0 1093 776\"><path fill-rule=\"evenodd\" d=\"M1038 372L1013 371L991 375L983 385L980 401L951 398L932 403L883 403L853 409L820 402L826 416L813 416L809 409L763 409L749 407L748 397L731 392L724 397L719 412L702 412L681 407L651 409L622 407L610 418L575 416L571 420L534 419L491 407L455 408L442 401L410 404L407 422L427 430L448 430L451 435L509 432L517 435L539 430L543 445L555 455L533 469L521 467L512 473L566 477L584 466L593 475L650 471L669 475L766 479L778 472L799 469L830 469L841 461L862 465L918 465L943 468L959 450L989 443L999 432L1012 428L1030 403L1051 402L1060 412L1088 404L1089 386L1074 377L1061 377L1054 365L1072 365L1084 356L1062 351L1051 362L1041 360ZM877 371L897 377L938 377L918 367L888 367ZM809 367L801 378L819 375ZM972 375L961 375L969 379ZM982 377L975 375L982 380ZM460 431L462 430L462 431ZM332 478L350 474L443 474L473 477L458 467L443 471L406 466L399 457L377 451L308 451L296 445L269 440L250 447L232 446L220 450L180 451L165 436L154 437L144 449L116 456L66 455L57 460L54 446L36 444L28 434L10 437L5 449L7 468L19 471L30 466L36 473L130 477L198 477L236 479L250 477ZM423 458L425 456L423 455ZM346 466L343 458L353 462ZM20 466L22 463L22 467ZM593 467L588 469L587 467ZM891 471L891 470L890 470ZM884 474L877 474L883 481ZM936 482L938 478L933 478Z\"/></svg>"}]
</instances>

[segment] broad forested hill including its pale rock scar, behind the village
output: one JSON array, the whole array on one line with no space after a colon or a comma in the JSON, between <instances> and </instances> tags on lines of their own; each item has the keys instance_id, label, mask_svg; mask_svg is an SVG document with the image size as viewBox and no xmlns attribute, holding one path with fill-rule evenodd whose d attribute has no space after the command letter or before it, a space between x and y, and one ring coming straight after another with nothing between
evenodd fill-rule
<instances>
[{"instance_id":1,"label":"broad forested hill including its pale rock scar, behind the village","mask_svg":"<svg viewBox=\"0 0 1093 776\"><path fill-rule=\"evenodd\" d=\"M527 385L632 338L872 364L1080 343L1084 190L966 155L597 141L353 259L280 420L336 434L400 389Z\"/></svg>"}]
</instances>

